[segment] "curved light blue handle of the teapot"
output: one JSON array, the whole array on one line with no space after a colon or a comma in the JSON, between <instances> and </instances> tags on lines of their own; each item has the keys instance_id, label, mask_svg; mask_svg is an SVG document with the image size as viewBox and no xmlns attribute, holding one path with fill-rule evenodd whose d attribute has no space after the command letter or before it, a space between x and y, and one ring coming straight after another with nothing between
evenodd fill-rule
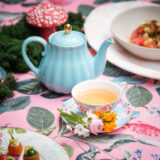
<instances>
[{"instance_id":1,"label":"curved light blue handle of the teapot","mask_svg":"<svg viewBox=\"0 0 160 160\"><path fill-rule=\"evenodd\" d=\"M22 44L23 59L25 60L28 67L37 75L38 69L32 64L32 62L30 61L30 59L28 58L27 53L26 53L26 47L27 47L28 43L30 43L30 42L40 42L44 46L44 49L46 49L47 42L45 39L43 39L41 37L32 36L32 37L27 38Z\"/></svg>"}]
</instances>

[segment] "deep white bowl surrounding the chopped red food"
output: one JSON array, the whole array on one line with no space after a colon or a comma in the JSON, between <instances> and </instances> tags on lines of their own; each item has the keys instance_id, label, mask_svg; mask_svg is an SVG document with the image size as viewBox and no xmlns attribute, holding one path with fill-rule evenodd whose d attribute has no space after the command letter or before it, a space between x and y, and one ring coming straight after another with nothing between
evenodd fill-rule
<instances>
[{"instance_id":1,"label":"deep white bowl surrounding the chopped red food","mask_svg":"<svg viewBox=\"0 0 160 160\"><path fill-rule=\"evenodd\" d=\"M111 32L115 40L132 54L148 60L160 60L160 49L129 42L132 32L146 20L160 21L160 6L136 7L121 12L113 19Z\"/></svg>"}]
</instances>

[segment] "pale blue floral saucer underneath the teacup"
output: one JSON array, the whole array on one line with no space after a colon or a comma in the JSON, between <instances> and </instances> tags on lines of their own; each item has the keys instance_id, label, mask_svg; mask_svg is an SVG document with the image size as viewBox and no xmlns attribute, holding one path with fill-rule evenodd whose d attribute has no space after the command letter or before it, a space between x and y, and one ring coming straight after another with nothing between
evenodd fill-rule
<instances>
[{"instance_id":1,"label":"pale blue floral saucer underneath the teacup","mask_svg":"<svg viewBox=\"0 0 160 160\"><path fill-rule=\"evenodd\" d=\"M73 112L78 115L83 115L83 113L79 110L73 98L70 98L67 101L65 101L61 109L63 110L63 112L66 112L66 113ZM124 100L120 100L119 104L111 109L111 112L117 114L117 120L115 122L117 127L115 129L118 129L124 126L128 121L140 116L140 112L133 111L130 108L129 104ZM68 124L67 119L63 116L61 117L62 117L62 120L66 124Z\"/></svg>"}]
</instances>

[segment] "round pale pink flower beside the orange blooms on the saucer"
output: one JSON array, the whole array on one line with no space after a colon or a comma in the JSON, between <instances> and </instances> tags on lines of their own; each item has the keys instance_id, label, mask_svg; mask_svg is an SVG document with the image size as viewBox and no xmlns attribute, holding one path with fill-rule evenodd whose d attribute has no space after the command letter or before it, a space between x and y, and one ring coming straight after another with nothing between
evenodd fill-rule
<instances>
[{"instance_id":1,"label":"round pale pink flower beside the orange blooms on the saucer","mask_svg":"<svg viewBox=\"0 0 160 160\"><path fill-rule=\"evenodd\" d=\"M96 134L101 133L103 130L103 122L100 119L93 119L90 124L91 133Z\"/></svg>"}]
</instances>

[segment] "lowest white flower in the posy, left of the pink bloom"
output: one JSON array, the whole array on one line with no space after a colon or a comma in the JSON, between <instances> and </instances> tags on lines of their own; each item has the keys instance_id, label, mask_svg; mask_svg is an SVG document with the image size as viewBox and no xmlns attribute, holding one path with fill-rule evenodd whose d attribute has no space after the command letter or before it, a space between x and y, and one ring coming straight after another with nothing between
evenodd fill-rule
<instances>
[{"instance_id":1,"label":"lowest white flower in the posy, left of the pink bloom","mask_svg":"<svg viewBox=\"0 0 160 160\"><path fill-rule=\"evenodd\" d=\"M82 124L77 124L74 126L74 133L83 137L88 137L90 135L89 130L85 128Z\"/></svg>"}]
</instances>

